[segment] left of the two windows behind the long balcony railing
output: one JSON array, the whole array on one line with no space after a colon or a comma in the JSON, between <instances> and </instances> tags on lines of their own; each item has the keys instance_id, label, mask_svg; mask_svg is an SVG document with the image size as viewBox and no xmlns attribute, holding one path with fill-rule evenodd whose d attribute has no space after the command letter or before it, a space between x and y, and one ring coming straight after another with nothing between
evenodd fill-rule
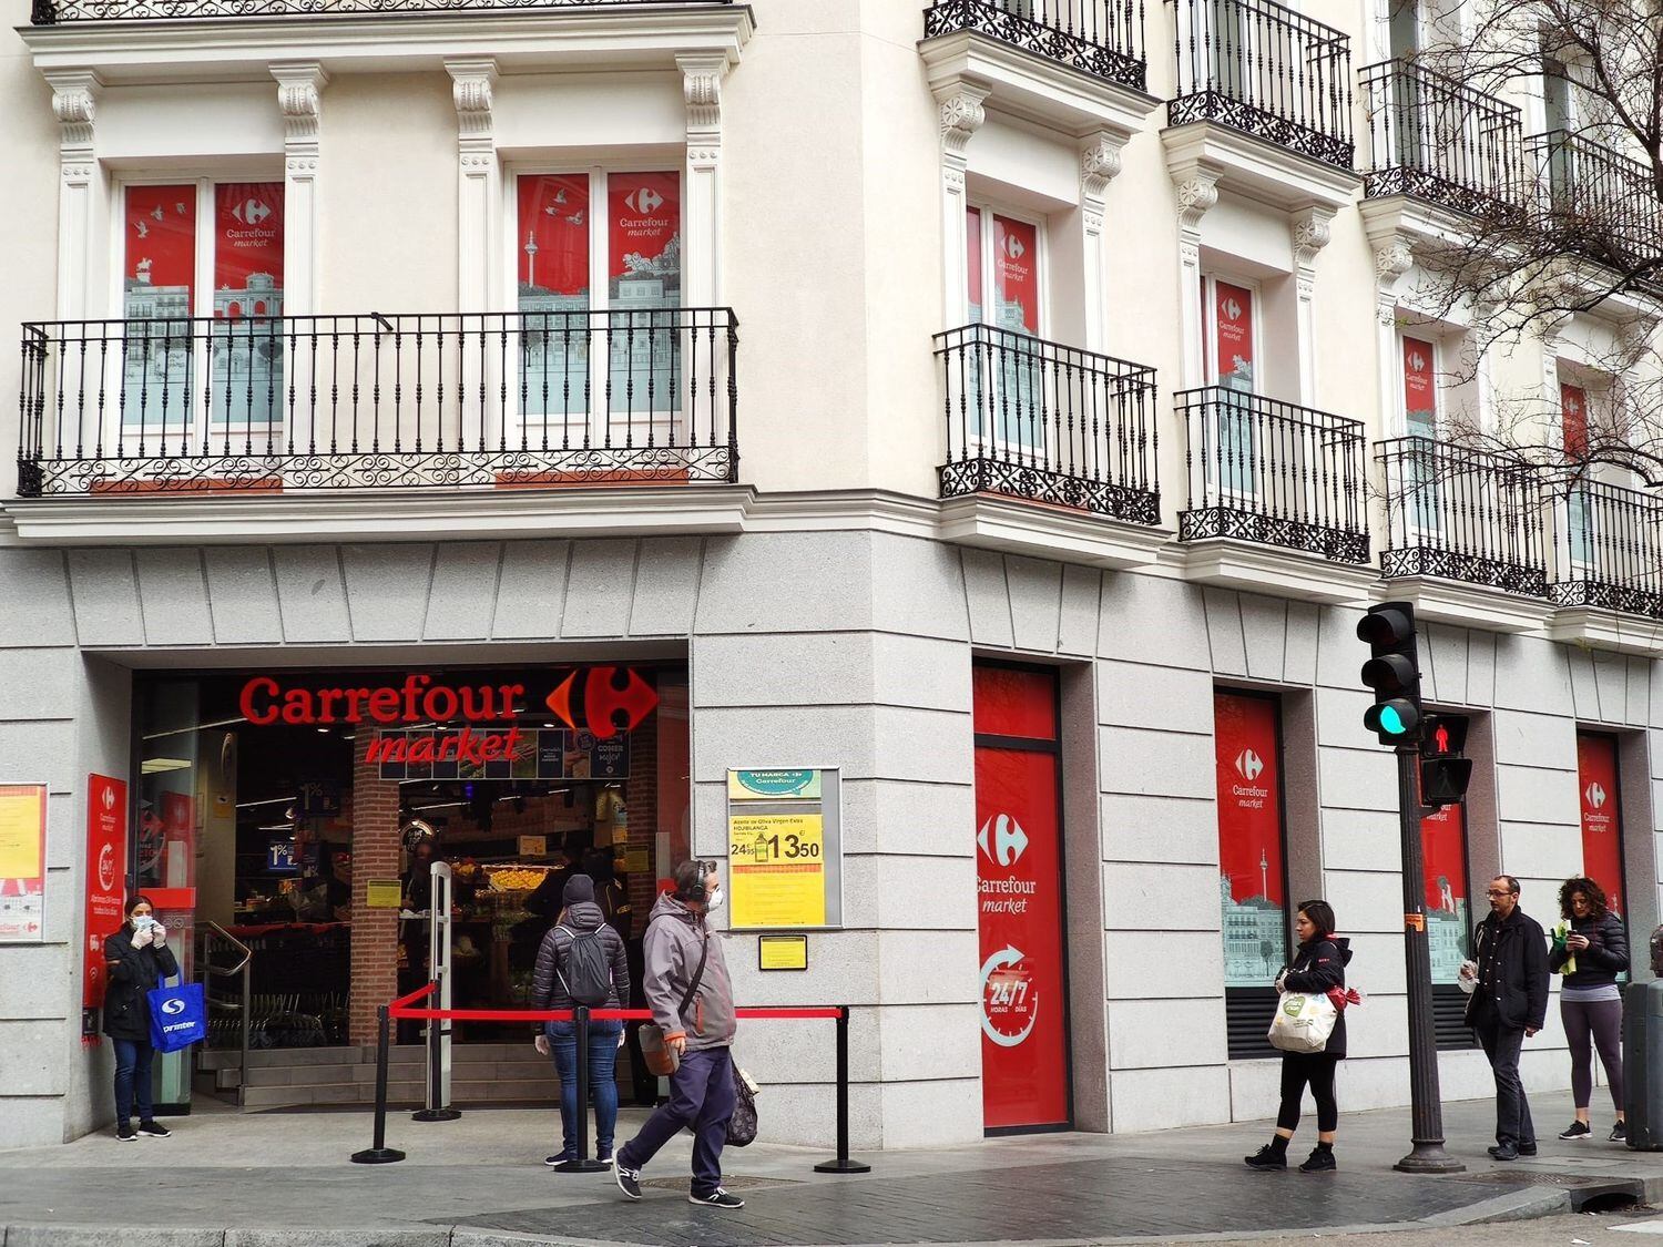
<instances>
[{"instance_id":1,"label":"left of the two windows behind the long balcony railing","mask_svg":"<svg viewBox=\"0 0 1663 1247\"><path fill-rule=\"evenodd\" d=\"M281 422L283 183L128 185L121 229L123 427Z\"/></svg>"}]
</instances>

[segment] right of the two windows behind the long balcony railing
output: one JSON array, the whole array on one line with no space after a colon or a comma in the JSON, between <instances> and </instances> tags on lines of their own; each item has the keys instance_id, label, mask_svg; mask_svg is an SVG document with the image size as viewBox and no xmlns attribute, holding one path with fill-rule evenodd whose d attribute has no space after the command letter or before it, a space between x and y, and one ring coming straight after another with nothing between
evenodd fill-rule
<instances>
[{"instance_id":1,"label":"right of the two windows behind the long balcony railing","mask_svg":"<svg viewBox=\"0 0 1663 1247\"><path fill-rule=\"evenodd\" d=\"M522 175L514 238L522 419L570 446L584 444L590 412L610 429L610 414L679 411L680 175Z\"/></svg>"}]
</instances>

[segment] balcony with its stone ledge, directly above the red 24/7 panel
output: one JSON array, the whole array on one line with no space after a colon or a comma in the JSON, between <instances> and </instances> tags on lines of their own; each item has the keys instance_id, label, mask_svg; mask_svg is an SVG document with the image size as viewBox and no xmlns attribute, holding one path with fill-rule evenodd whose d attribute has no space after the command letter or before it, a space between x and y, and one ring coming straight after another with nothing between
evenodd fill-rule
<instances>
[{"instance_id":1,"label":"balcony with its stone ledge, directly above the red 24/7 panel","mask_svg":"<svg viewBox=\"0 0 1663 1247\"><path fill-rule=\"evenodd\" d=\"M943 534L1016 549L1019 529L1049 525L1034 544L1051 542L1051 557L1061 539L1103 565L1152 560L1169 535L1157 532L1154 369L989 324L935 343Z\"/></svg>"}]
</instances>

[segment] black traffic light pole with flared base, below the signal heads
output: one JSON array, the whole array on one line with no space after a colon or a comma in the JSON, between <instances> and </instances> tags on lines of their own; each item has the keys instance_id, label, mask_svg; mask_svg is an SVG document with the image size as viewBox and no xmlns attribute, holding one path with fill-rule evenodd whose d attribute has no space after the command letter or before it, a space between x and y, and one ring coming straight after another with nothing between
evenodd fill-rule
<instances>
[{"instance_id":1,"label":"black traffic light pole with flared base, below the signal heads","mask_svg":"<svg viewBox=\"0 0 1663 1247\"><path fill-rule=\"evenodd\" d=\"M1425 863L1420 846L1419 753L1397 748L1397 816L1404 838L1404 961L1409 969L1409 1094L1414 1149L1394 1169L1405 1174L1465 1171L1443 1151L1438 1041L1432 1026L1432 946L1427 938Z\"/></svg>"}]
</instances>

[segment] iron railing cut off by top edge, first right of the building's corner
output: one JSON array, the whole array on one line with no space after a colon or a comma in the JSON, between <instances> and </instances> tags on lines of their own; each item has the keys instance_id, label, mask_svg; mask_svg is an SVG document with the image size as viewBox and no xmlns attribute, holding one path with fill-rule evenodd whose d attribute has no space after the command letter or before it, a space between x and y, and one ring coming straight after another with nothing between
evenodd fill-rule
<instances>
[{"instance_id":1,"label":"iron railing cut off by top edge, first right of the building's corner","mask_svg":"<svg viewBox=\"0 0 1663 1247\"><path fill-rule=\"evenodd\" d=\"M925 38L973 30L1141 91L1142 18L1144 0L935 0Z\"/></svg>"}]
</instances>

